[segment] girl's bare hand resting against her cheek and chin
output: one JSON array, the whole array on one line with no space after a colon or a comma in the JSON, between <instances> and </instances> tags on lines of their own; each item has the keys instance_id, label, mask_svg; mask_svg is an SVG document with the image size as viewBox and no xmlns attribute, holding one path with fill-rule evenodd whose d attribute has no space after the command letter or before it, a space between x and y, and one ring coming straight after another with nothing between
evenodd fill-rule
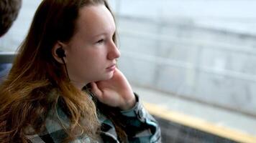
<instances>
[{"instance_id":1,"label":"girl's bare hand resting against her cheek and chin","mask_svg":"<svg viewBox=\"0 0 256 143\"><path fill-rule=\"evenodd\" d=\"M100 102L122 110L131 109L136 102L132 87L119 69L115 69L111 79L91 82L92 92Z\"/></svg>"}]
</instances>

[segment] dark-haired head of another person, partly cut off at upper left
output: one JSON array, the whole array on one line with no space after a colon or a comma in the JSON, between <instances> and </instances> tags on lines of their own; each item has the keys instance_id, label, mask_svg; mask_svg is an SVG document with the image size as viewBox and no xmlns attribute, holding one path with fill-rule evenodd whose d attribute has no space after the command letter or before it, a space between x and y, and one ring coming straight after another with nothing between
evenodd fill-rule
<instances>
[{"instance_id":1,"label":"dark-haired head of another person, partly cut off at upper left","mask_svg":"<svg viewBox=\"0 0 256 143\"><path fill-rule=\"evenodd\" d=\"M0 37L12 26L21 5L22 0L0 0Z\"/></svg>"}]
</instances>

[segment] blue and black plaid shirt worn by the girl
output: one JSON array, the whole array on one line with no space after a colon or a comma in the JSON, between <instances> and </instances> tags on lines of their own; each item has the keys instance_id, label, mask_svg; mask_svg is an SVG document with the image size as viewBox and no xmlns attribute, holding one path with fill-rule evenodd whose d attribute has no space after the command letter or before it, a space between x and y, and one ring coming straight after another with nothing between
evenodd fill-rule
<instances>
[{"instance_id":1,"label":"blue and black plaid shirt worn by the girl","mask_svg":"<svg viewBox=\"0 0 256 143\"><path fill-rule=\"evenodd\" d=\"M161 142L160 141L160 128L155 119L145 110L142 106L137 94L137 103L132 109L127 111L119 111L119 116L125 124L124 132L127 134L128 142ZM40 134L27 136L32 143L60 143L62 139L67 137L63 127L68 127L68 117L60 107L52 109L45 120L45 131ZM91 142L111 142L119 143L119 137L116 134L114 124L110 119L107 119L104 114L99 113L99 121L101 126L100 138L98 141L83 135L73 140L72 143L91 143ZM60 124L61 119L61 124Z\"/></svg>"}]
</instances>

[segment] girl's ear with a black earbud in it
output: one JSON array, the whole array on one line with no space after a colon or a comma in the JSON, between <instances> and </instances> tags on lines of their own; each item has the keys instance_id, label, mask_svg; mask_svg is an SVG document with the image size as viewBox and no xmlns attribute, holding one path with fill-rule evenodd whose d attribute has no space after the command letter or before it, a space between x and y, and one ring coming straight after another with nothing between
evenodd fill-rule
<instances>
[{"instance_id":1,"label":"girl's ear with a black earbud in it","mask_svg":"<svg viewBox=\"0 0 256 143\"><path fill-rule=\"evenodd\" d=\"M59 41L52 48L52 56L60 64L65 64L65 50L63 49L63 44Z\"/></svg>"}]
</instances>

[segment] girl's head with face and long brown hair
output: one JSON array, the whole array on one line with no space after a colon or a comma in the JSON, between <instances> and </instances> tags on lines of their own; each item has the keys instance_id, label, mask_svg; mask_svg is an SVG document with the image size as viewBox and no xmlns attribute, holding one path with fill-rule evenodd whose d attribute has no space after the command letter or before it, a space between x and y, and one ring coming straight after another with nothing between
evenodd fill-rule
<instances>
[{"instance_id":1,"label":"girl's head with face and long brown hair","mask_svg":"<svg viewBox=\"0 0 256 143\"><path fill-rule=\"evenodd\" d=\"M76 136L71 134L74 129L93 134L98 126L95 105L78 88L113 76L109 66L119 57L115 41L114 17L106 0L43 0L0 91L12 94L12 99L2 96L6 99L0 104L8 107L7 103L12 103L8 114L15 118L12 124L16 124L10 127L13 135L24 134L24 124L38 124L37 119L49 108L49 104L40 102L45 102L44 90L49 85L60 90L58 96L66 104L70 137ZM40 104L29 109L31 101ZM32 118L27 119L26 113ZM81 118L86 126L81 125Z\"/></svg>"}]
</instances>

